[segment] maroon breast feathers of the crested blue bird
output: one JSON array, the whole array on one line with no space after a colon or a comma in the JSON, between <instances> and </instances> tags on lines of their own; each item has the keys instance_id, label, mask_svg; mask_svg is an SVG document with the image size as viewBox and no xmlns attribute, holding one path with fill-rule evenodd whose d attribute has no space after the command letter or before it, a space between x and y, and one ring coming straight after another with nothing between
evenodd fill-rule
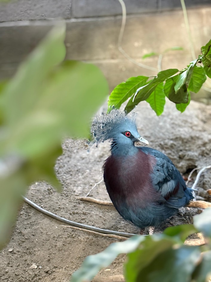
<instances>
[{"instance_id":1,"label":"maroon breast feathers of the crested blue bird","mask_svg":"<svg viewBox=\"0 0 211 282\"><path fill-rule=\"evenodd\" d=\"M104 180L112 202L129 204L138 201L139 205L145 206L156 200L159 195L150 177L154 162L154 157L141 150L135 156L108 157L104 164Z\"/></svg>"}]
</instances>

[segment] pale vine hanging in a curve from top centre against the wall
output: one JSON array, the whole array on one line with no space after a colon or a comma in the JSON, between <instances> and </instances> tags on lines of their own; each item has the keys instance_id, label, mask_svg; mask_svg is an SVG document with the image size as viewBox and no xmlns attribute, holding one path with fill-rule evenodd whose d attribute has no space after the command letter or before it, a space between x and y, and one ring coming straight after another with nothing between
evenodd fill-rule
<instances>
[{"instance_id":1,"label":"pale vine hanging in a curve from top centre against the wall","mask_svg":"<svg viewBox=\"0 0 211 282\"><path fill-rule=\"evenodd\" d=\"M119 51L122 53L122 55L128 59L129 61L131 61L133 64L136 64L139 67L143 67L144 69L147 70L152 70L155 71L156 73L158 72L158 69L154 68L154 67L149 67L147 65L141 64L137 61L135 61L133 58L131 58L122 48L121 44L122 44L122 38L123 38L123 34L124 34L124 30L125 30L125 24L126 24L126 7L125 7L125 3L123 0L118 0L122 6L122 24L121 24L121 28L120 28L120 34L119 34L119 38L118 38L118 49Z\"/></svg>"}]
</instances>

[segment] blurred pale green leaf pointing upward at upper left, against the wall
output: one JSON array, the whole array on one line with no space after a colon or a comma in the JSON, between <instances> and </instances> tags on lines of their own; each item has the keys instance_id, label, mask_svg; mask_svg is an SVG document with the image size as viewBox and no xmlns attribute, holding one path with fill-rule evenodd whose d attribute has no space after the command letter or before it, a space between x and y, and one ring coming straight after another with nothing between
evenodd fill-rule
<instances>
[{"instance_id":1,"label":"blurred pale green leaf pointing upward at upper left, against the wall","mask_svg":"<svg viewBox=\"0 0 211 282\"><path fill-rule=\"evenodd\" d=\"M23 62L4 89L4 114L13 125L25 119L42 97L42 86L49 72L65 58L65 24L54 27Z\"/></svg>"}]
</instances>

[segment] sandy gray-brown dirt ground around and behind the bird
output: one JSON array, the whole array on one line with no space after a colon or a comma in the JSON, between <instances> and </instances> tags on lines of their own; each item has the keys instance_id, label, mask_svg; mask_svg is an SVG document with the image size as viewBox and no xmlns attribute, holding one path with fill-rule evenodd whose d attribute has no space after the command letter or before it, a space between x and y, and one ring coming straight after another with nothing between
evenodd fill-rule
<instances>
[{"instance_id":1,"label":"sandy gray-brown dirt ground around and behind the bird","mask_svg":"<svg viewBox=\"0 0 211 282\"><path fill-rule=\"evenodd\" d=\"M192 168L210 163L210 106L192 102L189 109L180 114L174 105L167 104L164 114L157 117L147 103L141 104L136 109L138 129L151 147L165 152L186 175ZM140 230L123 220L113 206L79 200L102 179L102 166L109 154L108 142L87 149L84 142L68 139L63 144L63 155L55 167L63 186L62 193L56 192L47 183L34 183L27 197L73 221L139 233ZM206 171L198 183L200 196L207 197L205 190L211 188L210 183L211 174ZM103 182L93 189L90 196L109 200ZM198 212L200 209L182 208L167 224L190 223ZM23 203L10 242L0 253L0 281L69 281L86 256L96 254L118 241L64 225ZM109 268L101 270L94 281L123 281L124 259L125 255L120 255Z\"/></svg>"}]
</instances>

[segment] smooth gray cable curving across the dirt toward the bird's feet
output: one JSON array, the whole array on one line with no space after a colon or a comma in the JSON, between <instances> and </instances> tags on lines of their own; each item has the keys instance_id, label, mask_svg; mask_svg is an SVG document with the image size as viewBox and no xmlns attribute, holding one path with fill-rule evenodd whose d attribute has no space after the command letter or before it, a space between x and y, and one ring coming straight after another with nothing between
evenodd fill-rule
<instances>
[{"instance_id":1,"label":"smooth gray cable curving across the dirt toward the bird's feet","mask_svg":"<svg viewBox=\"0 0 211 282\"><path fill-rule=\"evenodd\" d=\"M75 221L71 221L68 220L66 218L60 217L59 215L56 215L52 212L47 211L46 209L41 208L40 206L38 206L37 204L33 203L31 200L29 200L28 198L23 197L23 200L25 201L25 203L27 203L28 205L32 206L34 209L38 210L39 212L42 212L45 215L48 215L56 220L59 220L61 222L64 222L66 224L69 224L71 226L75 226L75 227L79 227L82 229L87 229L87 230L91 230L91 231L95 231L98 233L103 233L103 234L113 234L113 235L117 235L117 236L122 236L122 237L131 237L133 235L137 235L137 234L131 234L131 233L124 233L124 232L117 232L117 231L113 231L113 230L107 230L107 229L101 229L98 227L94 227L91 225L86 225L86 224L82 224L82 223L78 223Z\"/></svg>"}]
</instances>

